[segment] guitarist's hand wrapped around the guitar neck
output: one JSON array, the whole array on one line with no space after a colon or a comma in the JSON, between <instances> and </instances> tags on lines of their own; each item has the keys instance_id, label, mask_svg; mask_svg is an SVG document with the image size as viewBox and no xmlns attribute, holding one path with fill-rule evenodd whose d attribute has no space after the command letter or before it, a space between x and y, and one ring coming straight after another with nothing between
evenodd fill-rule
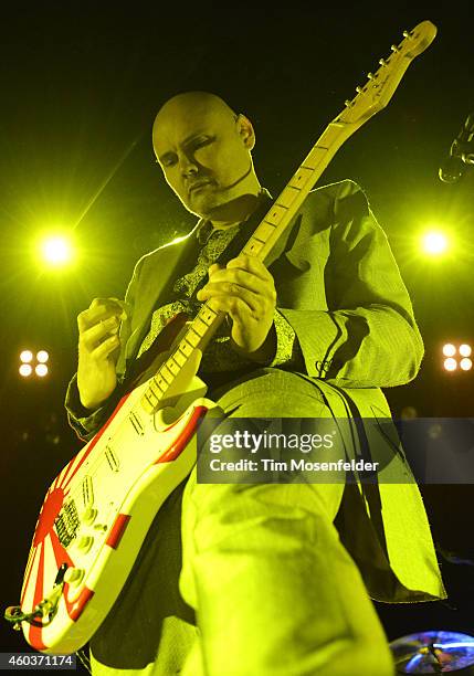
<instances>
[{"instance_id":1,"label":"guitarist's hand wrapped around the guitar neck","mask_svg":"<svg viewBox=\"0 0 474 676\"><path fill-rule=\"evenodd\" d=\"M227 313L232 319L232 340L246 356L260 360L264 358L262 350L267 356L274 350L274 346L265 341L272 338L275 283L259 258L242 254L227 267L211 265L209 282L198 292L197 298L211 300L209 305L213 310Z\"/></svg>"}]
</instances>

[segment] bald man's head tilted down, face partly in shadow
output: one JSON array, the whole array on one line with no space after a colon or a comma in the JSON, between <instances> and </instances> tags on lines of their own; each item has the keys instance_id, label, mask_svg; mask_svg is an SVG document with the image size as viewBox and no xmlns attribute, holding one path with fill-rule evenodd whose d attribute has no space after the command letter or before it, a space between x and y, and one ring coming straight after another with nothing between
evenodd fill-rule
<instances>
[{"instance_id":1,"label":"bald man's head tilted down, face partly in shadow","mask_svg":"<svg viewBox=\"0 0 474 676\"><path fill-rule=\"evenodd\" d=\"M188 211L209 218L245 193L253 146L247 124L209 102L172 101L159 113L155 154L167 183Z\"/></svg>"}]
</instances>

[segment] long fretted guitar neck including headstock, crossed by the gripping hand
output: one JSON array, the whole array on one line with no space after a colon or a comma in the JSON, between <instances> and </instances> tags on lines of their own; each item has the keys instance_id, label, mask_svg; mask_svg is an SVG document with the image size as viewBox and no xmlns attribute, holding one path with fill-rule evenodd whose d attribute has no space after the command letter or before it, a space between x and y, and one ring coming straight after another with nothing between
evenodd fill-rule
<instances>
[{"instance_id":1,"label":"long fretted guitar neck including headstock, crossed by the gripping hand","mask_svg":"<svg viewBox=\"0 0 474 676\"><path fill-rule=\"evenodd\" d=\"M431 44L435 34L436 28L430 21L423 21L413 31L405 31L404 40L399 45L392 45L391 55L379 61L378 71L368 75L368 83L364 87L357 87L357 96L352 101L346 101L343 112L326 127L241 253L265 262L337 150L349 136L387 105L411 61ZM209 302L202 305L175 352L151 378L140 401L147 412L155 411L159 402L166 399L188 361L196 361L196 353L203 352L224 317L223 313L214 311Z\"/></svg>"}]
</instances>

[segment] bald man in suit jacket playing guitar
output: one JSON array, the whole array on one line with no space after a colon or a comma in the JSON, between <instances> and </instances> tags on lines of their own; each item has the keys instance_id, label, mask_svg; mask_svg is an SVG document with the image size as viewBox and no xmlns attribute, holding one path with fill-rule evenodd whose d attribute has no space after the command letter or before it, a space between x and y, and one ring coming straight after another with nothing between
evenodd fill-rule
<instances>
[{"instance_id":1,"label":"bald man in suit jacket playing guitar","mask_svg":"<svg viewBox=\"0 0 474 676\"><path fill-rule=\"evenodd\" d=\"M228 419L389 418L379 388L411 380L423 347L362 191L351 181L313 191L267 268L239 255L272 202L253 167L250 120L213 94L179 94L159 110L152 140L167 183L199 222L138 262L126 314L94 299L80 315L66 398L77 433L95 434L136 359L204 300L229 319L199 372ZM91 642L93 673L392 674L369 595L445 595L401 453L393 465L392 483L368 486L207 485L192 471Z\"/></svg>"}]
</instances>

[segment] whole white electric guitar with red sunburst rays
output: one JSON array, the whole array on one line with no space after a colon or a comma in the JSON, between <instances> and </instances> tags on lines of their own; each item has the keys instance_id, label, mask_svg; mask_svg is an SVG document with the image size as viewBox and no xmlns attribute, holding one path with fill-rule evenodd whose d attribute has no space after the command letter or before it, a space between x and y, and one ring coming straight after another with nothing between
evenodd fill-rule
<instances>
[{"instance_id":1,"label":"whole white electric guitar with red sunburst rays","mask_svg":"<svg viewBox=\"0 0 474 676\"><path fill-rule=\"evenodd\" d=\"M270 208L242 253L265 262L344 141L392 97L436 34L423 21L357 87ZM203 304L159 366L125 394L106 424L50 486L19 606L6 617L44 653L73 653L96 632L125 584L148 528L197 458L196 430L215 404L196 373L224 315Z\"/></svg>"}]
</instances>

